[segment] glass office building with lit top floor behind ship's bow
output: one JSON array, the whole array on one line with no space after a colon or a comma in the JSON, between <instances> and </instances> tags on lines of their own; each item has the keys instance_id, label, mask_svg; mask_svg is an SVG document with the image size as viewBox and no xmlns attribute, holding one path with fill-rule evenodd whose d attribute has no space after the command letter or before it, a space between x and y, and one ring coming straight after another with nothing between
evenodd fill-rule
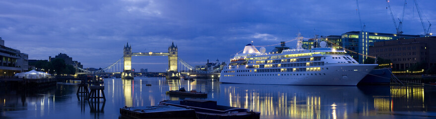
<instances>
[{"instance_id":1,"label":"glass office building with lit top floor behind ship's bow","mask_svg":"<svg viewBox=\"0 0 436 119\"><path fill-rule=\"evenodd\" d=\"M411 39L425 37L420 35L374 33L365 31L350 31L342 34L342 47L348 49L347 53L355 60L363 63L368 55L369 47L373 47L375 42L398 40L400 38Z\"/></svg>"}]
</instances>

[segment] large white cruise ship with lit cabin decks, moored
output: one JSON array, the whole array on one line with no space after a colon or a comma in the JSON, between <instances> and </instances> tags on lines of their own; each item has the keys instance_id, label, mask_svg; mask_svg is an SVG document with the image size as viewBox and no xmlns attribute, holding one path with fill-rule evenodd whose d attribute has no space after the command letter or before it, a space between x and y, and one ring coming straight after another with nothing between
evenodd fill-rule
<instances>
[{"instance_id":1,"label":"large white cruise ship with lit cabin decks, moored","mask_svg":"<svg viewBox=\"0 0 436 119\"><path fill-rule=\"evenodd\" d=\"M252 44L231 59L221 71L220 82L273 85L357 85L377 64L359 64L343 50L301 48L259 52ZM322 46L322 45L321 45Z\"/></svg>"}]
</instances>

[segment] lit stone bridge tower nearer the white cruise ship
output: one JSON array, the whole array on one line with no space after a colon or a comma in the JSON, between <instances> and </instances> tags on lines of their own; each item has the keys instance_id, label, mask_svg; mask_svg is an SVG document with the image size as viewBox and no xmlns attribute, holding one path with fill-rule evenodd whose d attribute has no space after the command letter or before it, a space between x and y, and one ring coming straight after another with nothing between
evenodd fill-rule
<instances>
[{"instance_id":1,"label":"lit stone bridge tower nearer the white cruise ship","mask_svg":"<svg viewBox=\"0 0 436 119\"><path fill-rule=\"evenodd\" d=\"M177 71L178 48L174 46L174 42L168 47L168 73L167 79L180 79L180 74Z\"/></svg>"}]
</instances>

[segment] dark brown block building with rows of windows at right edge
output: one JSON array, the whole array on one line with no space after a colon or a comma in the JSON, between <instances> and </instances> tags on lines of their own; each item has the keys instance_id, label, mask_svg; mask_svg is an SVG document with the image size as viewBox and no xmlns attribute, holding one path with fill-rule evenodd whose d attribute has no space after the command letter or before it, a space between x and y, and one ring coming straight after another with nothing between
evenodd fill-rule
<instances>
[{"instance_id":1,"label":"dark brown block building with rows of windows at right edge","mask_svg":"<svg viewBox=\"0 0 436 119\"><path fill-rule=\"evenodd\" d=\"M406 70L417 63L436 65L436 37L401 39L374 43L370 56L392 61L392 68ZM424 68L424 67L423 67Z\"/></svg>"}]
</instances>

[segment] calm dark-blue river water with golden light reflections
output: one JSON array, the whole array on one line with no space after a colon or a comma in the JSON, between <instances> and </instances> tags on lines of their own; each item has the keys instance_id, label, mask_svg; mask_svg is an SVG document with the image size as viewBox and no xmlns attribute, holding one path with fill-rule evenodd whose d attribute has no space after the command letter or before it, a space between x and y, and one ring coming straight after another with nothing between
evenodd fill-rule
<instances>
[{"instance_id":1,"label":"calm dark-blue river water with golden light reflections","mask_svg":"<svg viewBox=\"0 0 436 119\"><path fill-rule=\"evenodd\" d=\"M0 89L0 119L117 119L124 106L183 100L165 92L207 92L219 105L261 112L261 119L434 119L435 86L289 86L220 84L216 80L105 79L106 102L79 101L77 82L47 89ZM152 86L145 86L152 84Z\"/></svg>"}]
</instances>

